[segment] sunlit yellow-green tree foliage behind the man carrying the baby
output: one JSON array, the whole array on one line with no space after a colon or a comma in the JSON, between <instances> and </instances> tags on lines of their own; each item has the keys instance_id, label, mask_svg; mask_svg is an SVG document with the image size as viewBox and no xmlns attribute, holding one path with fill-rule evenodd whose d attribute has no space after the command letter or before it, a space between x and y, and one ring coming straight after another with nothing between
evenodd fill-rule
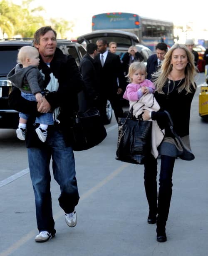
<instances>
[{"instance_id":1,"label":"sunlit yellow-green tree foliage behind the man carrying the baby","mask_svg":"<svg viewBox=\"0 0 208 256\"><path fill-rule=\"evenodd\" d=\"M45 26L45 20L40 14L45 11L42 6L31 9L34 0L23 0L21 5L15 5L11 1L0 1L0 30L7 37L21 35L23 38L32 38L35 31ZM58 38L66 38L67 32L72 31L73 22L62 18L50 19L52 28L57 31Z\"/></svg>"}]
</instances>

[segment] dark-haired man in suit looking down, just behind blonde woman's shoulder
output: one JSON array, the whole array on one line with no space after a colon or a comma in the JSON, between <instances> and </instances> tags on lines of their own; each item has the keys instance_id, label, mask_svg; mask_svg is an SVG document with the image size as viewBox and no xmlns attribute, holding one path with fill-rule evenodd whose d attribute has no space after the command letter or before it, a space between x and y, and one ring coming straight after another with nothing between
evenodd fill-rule
<instances>
[{"instance_id":1,"label":"dark-haired man in suit looking down, just behind blonde woman's shoulder","mask_svg":"<svg viewBox=\"0 0 208 256\"><path fill-rule=\"evenodd\" d=\"M161 66L168 51L166 43L158 43L155 47L156 54L149 56L146 65L147 79L152 79L152 74Z\"/></svg>"}]
</instances>

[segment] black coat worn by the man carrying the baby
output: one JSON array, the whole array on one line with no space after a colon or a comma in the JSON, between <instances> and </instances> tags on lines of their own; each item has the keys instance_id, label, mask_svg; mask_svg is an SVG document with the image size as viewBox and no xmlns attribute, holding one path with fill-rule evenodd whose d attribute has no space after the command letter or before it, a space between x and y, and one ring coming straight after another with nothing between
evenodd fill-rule
<instances>
[{"instance_id":1,"label":"black coat worn by the man carrying the baby","mask_svg":"<svg viewBox=\"0 0 208 256\"><path fill-rule=\"evenodd\" d=\"M45 84L49 82L51 72L59 82L57 92L48 93L45 96L52 110L60 106L60 115L58 117L60 124L57 127L56 125L51 125L48 128L48 133L50 133L50 129L59 129L64 134L66 144L70 145L70 120L74 110L78 109L77 93L83 89L84 82L74 58L71 55L64 55L58 48L54 53L50 68L43 62L41 56L39 58L39 69L45 74ZM37 112L37 102L25 100L21 97L20 90L14 87L9 96L9 104L19 112L30 114L30 118L27 121L26 146L44 147L44 143L37 138L35 133L35 128L37 127L37 125L34 125L35 117L40 115Z\"/></svg>"}]
</instances>

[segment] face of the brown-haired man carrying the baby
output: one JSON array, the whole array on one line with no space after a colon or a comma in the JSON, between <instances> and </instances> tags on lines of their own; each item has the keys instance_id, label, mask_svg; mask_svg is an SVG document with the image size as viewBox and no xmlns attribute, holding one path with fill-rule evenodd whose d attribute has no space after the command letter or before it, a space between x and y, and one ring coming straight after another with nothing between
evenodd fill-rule
<instances>
[{"instance_id":1,"label":"face of the brown-haired man carrying the baby","mask_svg":"<svg viewBox=\"0 0 208 256\"><path fill-rule=\"evenodd\" d=\"M49 30L45 35L41 35L40 44L35 45L43 58L52 57L55 53L56 46L56 37L52 30Z\"/></svg>"}]
</instances>

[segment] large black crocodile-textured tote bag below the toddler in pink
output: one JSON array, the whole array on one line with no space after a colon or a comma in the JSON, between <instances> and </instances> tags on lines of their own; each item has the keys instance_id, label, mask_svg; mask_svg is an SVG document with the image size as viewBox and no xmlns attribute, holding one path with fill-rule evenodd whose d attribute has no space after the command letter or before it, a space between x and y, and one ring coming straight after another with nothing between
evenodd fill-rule
<instances>
[{"instance_id":1,"label":"large black crocodile-textured tote bag below the toddler in pink","mask_svg":"<svg viewBox=\"0 0 208 256\"><path fill-rule=\"evenodd\" d=\"M152 121L144 121L141 116L134 118L131 108L126 118L118 118L118 125L116 160L144 164L151 152Z\"/></svg>"}]
</instances>

